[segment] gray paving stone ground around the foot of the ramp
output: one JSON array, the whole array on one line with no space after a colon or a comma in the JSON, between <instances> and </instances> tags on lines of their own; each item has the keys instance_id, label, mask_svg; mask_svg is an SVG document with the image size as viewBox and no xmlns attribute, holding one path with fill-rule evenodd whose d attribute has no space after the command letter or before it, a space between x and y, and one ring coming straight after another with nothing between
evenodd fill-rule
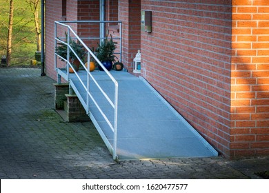
<instances>
[{"instance_id":1,"label":"gray paving stone ground around the foot of the ramp","mask_svg":"<svg viewBox=\"0 0 269 193\"><path fill-rule=\"evenodd\" d=\"M0 68L0 179L261 179L269 157L116 163L91 122L54 111L54 81L37 68Z\"/></svg>"}]
</instances>

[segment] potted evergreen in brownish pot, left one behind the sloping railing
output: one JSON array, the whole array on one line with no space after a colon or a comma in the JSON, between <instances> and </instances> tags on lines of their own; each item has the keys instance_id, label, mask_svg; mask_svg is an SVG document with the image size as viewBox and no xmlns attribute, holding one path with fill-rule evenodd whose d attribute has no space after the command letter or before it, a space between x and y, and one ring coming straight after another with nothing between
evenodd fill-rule
<instances>
[{"instance_id":1,"label":"potted evergreen in brownish pot, left one behind the sloping railing","mask_svg":"<svg viewBox=\"0 0 269 193\"><path fill-rule=\"evenodd\" d=\"M67 43L67 39L68 39L68 34L66 34L66 43ZM70 38L70 46L71 48L74 50L74 52L77 54L77 56L83 61L86 51L83 48L83 45L81 45L80 42L74 41ZM74 70L79 71L79 65L80 62L77 59L77 57L74 55L74 52L72 52L70 50L69 52L69 61L70 63L73 65ZM59 56L63 57L63 59L67 59L68 56L68 45L64 44L64 43L58 43L58 46L56 48L56 53L59 54ZM61 59L61 58L60 58ZM61 59L61 61L64 61L63 59ZM72 71L72 70L70 70Z\"/></svg>"}]
</instances>

